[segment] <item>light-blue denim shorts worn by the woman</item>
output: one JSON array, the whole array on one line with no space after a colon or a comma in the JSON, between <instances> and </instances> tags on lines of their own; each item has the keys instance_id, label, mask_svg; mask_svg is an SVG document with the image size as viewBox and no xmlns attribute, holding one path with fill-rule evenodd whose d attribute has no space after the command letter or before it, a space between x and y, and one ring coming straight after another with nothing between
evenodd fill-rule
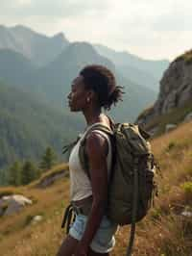
<instances>
[{"instance_id":1,"label":"light-blue denim shorts worn by the woman","mask_svg":"<svg viewBox=\"0 0 192 256\"><path fill-rule=\"evenodd\" d=\"M77 215L75 222L69 229L69 235L80 241L84 235L87 217ZM112 250L115 244L114 234L118 229L118 225L112 223L106 216L102 218L101 224L90 243L90 248L98 253L107 253Z\"/></svg>"}]
</instances>

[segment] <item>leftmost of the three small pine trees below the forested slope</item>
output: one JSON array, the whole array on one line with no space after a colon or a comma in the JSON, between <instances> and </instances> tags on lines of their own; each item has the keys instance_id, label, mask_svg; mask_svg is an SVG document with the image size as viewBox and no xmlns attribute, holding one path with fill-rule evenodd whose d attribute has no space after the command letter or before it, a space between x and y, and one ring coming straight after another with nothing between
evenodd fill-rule
<instances>
[{"instance_id":1,"label":"leftmost of the three small pine trees below the forested slope","mask_svg":"<svg viewBox=\"0 0 192 256\"><path fill-rule=\"evenodd\" d=\"M12 186L19 186L21 184L21 164L16 161L8 169L9 172L9 184Z\"/></svg>"}]
</instances>

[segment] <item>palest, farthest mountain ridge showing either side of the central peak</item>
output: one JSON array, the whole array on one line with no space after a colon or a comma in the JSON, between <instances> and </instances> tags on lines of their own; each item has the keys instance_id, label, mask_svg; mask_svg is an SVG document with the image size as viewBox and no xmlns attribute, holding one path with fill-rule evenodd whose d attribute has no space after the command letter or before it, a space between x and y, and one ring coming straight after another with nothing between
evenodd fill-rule
<instances>
[{"instance_id":1,"label":"palest, farthest mountain ridge showing either side of the central peak","mask_svg":"<svg viewBox=\"0 0 192 256\"><path fill-rule=\"evenodd\" d=\"M1 29L0 29L0 48L3 48L3 45L5 47L8 47L8 45L10 45L9 46L10 48L24 54L26 57L30 58L31 61L33 61L34 64L36 64L37 66L44 66L52 62L61 53L63 48L70 43L69 40L65 38L63 33L58 33L53 37L47 37L46 35L36 33L34 30L28 27L25 27L23 25L16 25L11 28L8 28L6 26L1 26L1 27L4 28L3 29L4 34L6 35L8 34L9 36L7 35L8 37L7 43L3 43L2 40L5 38L5 35L1 34ZM27 40L23 37L23 34L28 35L26 36ZM21 38L22 38L22 41L21 41ZM39 38L41 38L40 42L35 43L35 41L39 41ZM42 39L44 41L43 45L41 45ZM57 42L53 43L55 39L57 40ZM12 45L13 42L14 42L14 45ZM35 43L35 45L33 43ZM56 50L53 49L52 44L55 45ZM100 50L97 48L97 45L99 44L92 44L92 45L94 46L94 48L96 48L98 54L101 54ZM107 46L100 44L100 48L101 47L105 49L108 48ZM123 59L126 60L125 64L119 64L118 66L118 64L115 63L112 58L111 59L109 58L111 56L108 56L108 54L107 55L101 54L104 57L107 57L108 59L110 59L110 61L112 61L115 65L117 65L116 67L118 67L119 71L126 78L130 78L130 80L132 80L132 82L134 82L135 84L141 84L141 85L143 84L144 86L151 87L151 89L153 90L158 90L159 72L158 72L157 78L156 76L154 76L154 72L156 73L156 68L155 68L156 63L158 63L158 61L144 60L126 51L117 52L110 48L108 48L108 50L110 50L110 52L113 53L112 55L114 55L115 53L118 56L118 58L120 56L121 58L123 57ZM54 53L52 53L52 51L54 51ZM132 62L129 61L130 59L132 59L134 62L136 61L137 63L132 64ZM141 63L143 63L142 68L139 67ZM146 69L145 67L148 65L148 63L151 65L147 70L145 70ZM159 63L162 63L162 62L159 61ZM162 66L165 69L167 67L167 64L162 63ZM132 75L132 71L133 71L133 75ZM139 76L139 73L141 73L140 74L141 77Z\"/></svg>"}]
</instances>

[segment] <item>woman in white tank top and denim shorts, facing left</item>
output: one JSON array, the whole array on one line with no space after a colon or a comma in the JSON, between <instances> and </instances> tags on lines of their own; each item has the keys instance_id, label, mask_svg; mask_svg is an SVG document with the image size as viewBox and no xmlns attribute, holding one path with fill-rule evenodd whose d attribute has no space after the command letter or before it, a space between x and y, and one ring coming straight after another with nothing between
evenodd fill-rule
<instances>
[{"instance_id":1,"label":"woman in white tank top and denim shorts, facing left","mask_svg":"<svg viewBox=\"0 0 192 256\"><path fill-rule=\"evenodd\" d=\"M102 108L109 110L111 105L122 99L121 87L107 67L88 65L74 79L68 103L71 112L82 112L87 123L87 131L97 123L111 130L111 123ZM85 154L88 160L88 173L80 164L78 150L80 141L74 146L69 158L71 181L71 201L76 211L75 222L60 246L58 256L107 256L114 246L117 225L105 215L108 199L108 176L111 168L111 141L108 135L98 130L87 134ZM89 207L84 207L84 206Z\"/></svg>"}]
</instances>

